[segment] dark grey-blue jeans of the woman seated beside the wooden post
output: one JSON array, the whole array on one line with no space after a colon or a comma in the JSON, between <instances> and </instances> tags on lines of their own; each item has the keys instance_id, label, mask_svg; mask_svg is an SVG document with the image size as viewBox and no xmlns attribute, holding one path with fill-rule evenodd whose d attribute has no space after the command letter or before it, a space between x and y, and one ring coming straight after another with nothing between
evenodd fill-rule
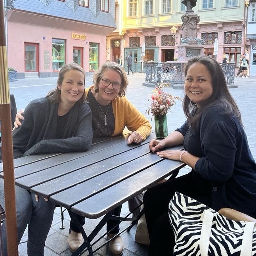
<instances>
[{"instance_id":1,"label":"dark grey-blue jeans of the woman seated beside the wooden post","mask_svg":"<svg viewBox=\"0 0 256 256\"><path fill-rule=\"evenodd\" d=\"M27 254L29 256L42 256L46 237L52 225L55 205L46 202L42 197L36 202L35 195L26 189L15 186L17 233L18 243L28 226ZM4 182L0 179L0 204L5 209ZM2 226L3 255L7 255L6 221Z\"/></svg>"}]
</instances>

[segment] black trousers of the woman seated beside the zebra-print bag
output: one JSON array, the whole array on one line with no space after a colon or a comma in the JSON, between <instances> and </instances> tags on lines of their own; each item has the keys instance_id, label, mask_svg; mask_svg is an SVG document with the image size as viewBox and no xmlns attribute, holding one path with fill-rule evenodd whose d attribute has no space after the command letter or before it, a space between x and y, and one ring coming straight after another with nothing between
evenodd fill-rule
<instances>
[{"instance_id":1,"label":"black trousers of the woman seated beside the zebra-print bag","mask_svg":"<svg viewBox=\"0 0 256 256\"><path fill-rule=\"evenodd\" d=\"M149 256L172 255L174 233L168 218L168 204L176 191L209 207L212 205L210 182L195 179L192 172L148 189L143 203L150 239Z\"/></svg>"}]
</instances>

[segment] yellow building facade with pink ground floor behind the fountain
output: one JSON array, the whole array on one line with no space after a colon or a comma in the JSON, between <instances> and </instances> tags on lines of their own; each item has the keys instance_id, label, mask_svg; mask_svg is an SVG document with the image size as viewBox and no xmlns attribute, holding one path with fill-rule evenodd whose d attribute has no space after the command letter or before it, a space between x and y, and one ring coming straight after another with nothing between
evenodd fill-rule
<instances>
[{"instance_id":1,"label":"yellow building facade with pink ground floor behind the fountain","mask_svg":"<svg viewBox=\"0 0 256 256\"><path fill-rule=\"evenodd\" d=\"M200 18L197 38L203 40L204 54L222 62L222 55L239 67L239 58L248 48L245 36L246 8L244 0L197 0L193 8ZM107 59L116 61L130 52L134 71L143 61L166 62L178 58L182 34L181 16L186 6L179 0L116 0L117 29L107 36ZM218 39L218 55L213 55ZM145 56L141 56L145 42Z\"/></svg>"}]
</instances>

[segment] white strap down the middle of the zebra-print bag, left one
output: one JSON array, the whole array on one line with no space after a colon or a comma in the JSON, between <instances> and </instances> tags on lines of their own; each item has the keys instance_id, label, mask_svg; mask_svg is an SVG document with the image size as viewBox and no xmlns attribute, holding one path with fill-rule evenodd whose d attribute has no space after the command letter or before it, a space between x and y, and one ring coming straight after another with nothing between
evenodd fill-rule
<instances>
[{"instance_id":1,"label":"white strap down the middle of the zebra-print bag, left one","mask_svg":"<svg viewBox=\"0 0 256 256\"><path fill-rule=\"evenodd\" d=\"M203 216L202 216L203 217L202 230L201 230L200 239L199 239L199 250L200 250L201 256L208 255L213 216L214 214L212 212L210 212L209 210L204 210Z\"/></svg>"}]
</instances>

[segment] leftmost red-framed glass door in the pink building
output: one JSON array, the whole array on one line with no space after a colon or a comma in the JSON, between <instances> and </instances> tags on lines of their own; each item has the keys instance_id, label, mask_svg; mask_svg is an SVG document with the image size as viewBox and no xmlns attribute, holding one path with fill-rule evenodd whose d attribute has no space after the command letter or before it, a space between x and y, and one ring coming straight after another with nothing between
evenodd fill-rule
<instances>
[{"instance_id":1,"label":"leftmost red-framed glass door in the pink building","mask_svg":"<svg viewBox=\"0 0 256 256\"><path fill-rule=\"evenodd\" d=\"M38 44L25 43L25 72L38 72Z\"/></svg>"}]
</instances>

